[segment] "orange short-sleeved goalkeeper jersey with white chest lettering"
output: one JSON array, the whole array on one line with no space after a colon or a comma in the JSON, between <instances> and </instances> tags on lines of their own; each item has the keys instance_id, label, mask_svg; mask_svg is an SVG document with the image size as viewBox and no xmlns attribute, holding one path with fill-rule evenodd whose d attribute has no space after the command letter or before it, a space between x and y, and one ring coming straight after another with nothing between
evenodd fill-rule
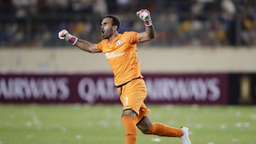
<instances>
[{"instance_id":1,"label":"orange short-sleeved goalkeeper jersey with white chest lettering","mask_svg":"<svg viewBox=\"0 0 256 144\"><path fill-rule=\"evenodd\" d=\"M112 41L105 39L97 43L97 49L104 52L110 62L116 86L142 77L137 57L138 34L134 31L124 32Z\"/></svg>"}]
</instances>

